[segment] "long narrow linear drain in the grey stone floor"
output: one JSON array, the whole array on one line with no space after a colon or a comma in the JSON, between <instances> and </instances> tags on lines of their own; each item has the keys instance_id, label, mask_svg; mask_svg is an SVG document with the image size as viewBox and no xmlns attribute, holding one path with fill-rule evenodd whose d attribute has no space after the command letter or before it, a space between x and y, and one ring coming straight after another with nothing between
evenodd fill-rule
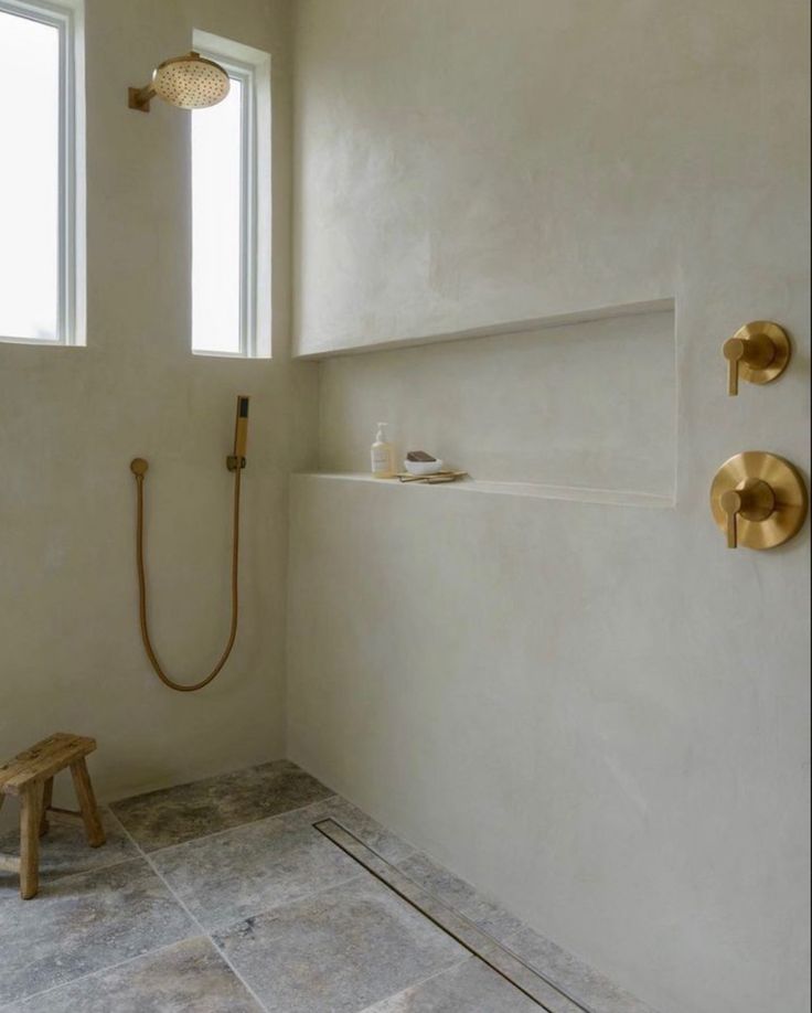
<instances>
[{"instance_id":1,"label":"long narrow linear drain in the grey stone floor","mask_svg":"<svg viewBox=\"0 0 812 1013\"><path fill-rule=\"evenodd\" d=\"M319 820L313 828L542 1010L547 1013L590 1013L473 921L432 897L399 868L382 859L341 823Z\"/></svg>"}]
</instances>

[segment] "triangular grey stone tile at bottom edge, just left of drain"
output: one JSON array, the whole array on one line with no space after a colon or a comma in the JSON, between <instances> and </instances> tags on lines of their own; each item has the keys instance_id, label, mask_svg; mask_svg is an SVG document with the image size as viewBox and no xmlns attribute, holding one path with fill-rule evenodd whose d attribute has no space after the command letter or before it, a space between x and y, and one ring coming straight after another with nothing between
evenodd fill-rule
<instances>
[{"instance_id":1,"label":"triangular grey stone tile at bottom edge, just left of drain","mask_svg":"<svg viewBox=\"0 0 812 1013\"><path fill-rule=\"evenodd\" d=\"M370 1006L365 1013L539 1013L537 1003L476 958Z\"/></svg>"}]
</instances>

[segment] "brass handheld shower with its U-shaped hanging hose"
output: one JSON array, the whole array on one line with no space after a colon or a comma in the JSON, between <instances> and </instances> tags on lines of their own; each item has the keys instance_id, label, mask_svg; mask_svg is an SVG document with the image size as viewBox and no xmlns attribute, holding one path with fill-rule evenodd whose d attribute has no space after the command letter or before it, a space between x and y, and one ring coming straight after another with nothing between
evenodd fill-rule
<instances>
[{"instance_id":1,"label":"brass handheld shower with its U-shaped hanging hose","mask_svg":"<svg viewBox=\"0 0 812 1013\"><path fill-rule=\"evenodd\" d=\"M228 632L228 640L225 650L220 657L220 661L213 671L191 685L175 682L163 670L149 635L149 623L147 622L147 569L143 562L143 479L147 474L149 463L141 457L137 457L130 462L130 470L136 477L136 565L138 569L138 615L141 622L141 640L143 649L147 652L150 664L154 669L156 675L161 682L175 690L178 693L194 693L207 686L222 671L228 655L234 648L237 639L237 621L239 618L239 493L242 484L243 468L245 468L245 449L248 438L248 398L239 396L237 398L237 422L234 434L234 454L226 458L226 467L234 472L234 500L232 512L232 621Z\"/></svg>"}]
</instances>

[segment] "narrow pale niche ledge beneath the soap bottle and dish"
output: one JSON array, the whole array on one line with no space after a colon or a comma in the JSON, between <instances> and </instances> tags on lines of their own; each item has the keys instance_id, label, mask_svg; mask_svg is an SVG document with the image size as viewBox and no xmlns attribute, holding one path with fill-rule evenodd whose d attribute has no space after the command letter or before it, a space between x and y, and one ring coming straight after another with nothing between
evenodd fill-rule
<instances>
[{"instance_id":1,"label":"narrow pale niche ledge beneath the soap bottle and dish","mask_svg":"<svg viewBox=\"0 0 812 1013\"><path fill-rule=\"evenodd\" d=\"M327 482L359 482L378 489L398 489L408 492L421 490L434 495L511 495L528 500L560 500L571 503L599 503L603 506L642 506L673 510L676 501L670 495L650 492L626 492L617 489L586 489L577 486L543 486L536 482L489 482L481 479L460 479L438 486L421 482L399 482L397 479L376 479L359 471L299 471L295 478Z\"/></svg>"}]
</instances>

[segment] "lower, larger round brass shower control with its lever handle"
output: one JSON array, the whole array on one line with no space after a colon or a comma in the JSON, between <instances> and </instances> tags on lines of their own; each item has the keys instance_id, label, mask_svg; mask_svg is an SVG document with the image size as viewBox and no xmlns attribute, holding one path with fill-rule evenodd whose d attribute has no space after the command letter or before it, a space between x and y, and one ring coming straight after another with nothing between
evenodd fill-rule
<instances>
[{"instance_id":1,"label":"lower, larger round brass shower control with its lever handle","mask_svg":"<svg viewBox=\"0 0 812 1013\"><path fill-rule=\"evenodd\" d=\"M710 487L714 520L727 547L774 548L803 526L806 487L795 468L763 450L737 454L719 468Z\"/></svg>"}]
</instances>

